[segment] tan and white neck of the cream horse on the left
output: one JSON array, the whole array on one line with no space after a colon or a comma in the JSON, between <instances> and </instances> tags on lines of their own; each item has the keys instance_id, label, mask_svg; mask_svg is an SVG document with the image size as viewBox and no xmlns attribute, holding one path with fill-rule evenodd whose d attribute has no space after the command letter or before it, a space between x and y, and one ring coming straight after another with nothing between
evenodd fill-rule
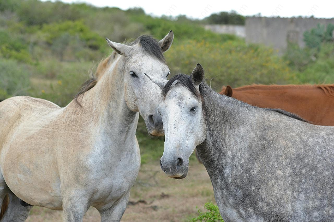
<instances>
[{"instance_id":1,"label":"tan and white neck of the cream horse on the left","mask_svg":"<svg viewBox=\"0 0 334 222\"><path fill-rule=\"evenodd\" d=\"M118 60L105 72L92 89L78 98L82 108L72 101L68 109L75 109L82 121L86 118L87 127L95 127L101 134L115 140L114 143L124 144L135 137L139 113L131 111L125 102Z\"/></svg>"}]
</instances>

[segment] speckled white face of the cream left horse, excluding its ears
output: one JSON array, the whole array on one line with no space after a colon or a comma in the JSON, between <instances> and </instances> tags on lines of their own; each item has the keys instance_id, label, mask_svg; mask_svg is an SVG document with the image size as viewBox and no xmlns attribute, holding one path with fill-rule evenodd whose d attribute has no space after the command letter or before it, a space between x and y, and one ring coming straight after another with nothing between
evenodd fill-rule
<instances>
[{"instance_id":1,"label":"speckled white face of the cream left horse, excluding its ears","mask_svg":"<svg viewBox=\"0 0 334 222\"><path fill-rule=\"evenodd\" d=\"M137 54L140 55L140 54ZM157 113L161 97L161 88L145 74L159 79L167 79L169 68L166 64L141 54L142 58L133 58L125 69L125 101L132 111L138 111L145 120L151 135L164 134L161 116Z\"/></svg>"}]
</instances>

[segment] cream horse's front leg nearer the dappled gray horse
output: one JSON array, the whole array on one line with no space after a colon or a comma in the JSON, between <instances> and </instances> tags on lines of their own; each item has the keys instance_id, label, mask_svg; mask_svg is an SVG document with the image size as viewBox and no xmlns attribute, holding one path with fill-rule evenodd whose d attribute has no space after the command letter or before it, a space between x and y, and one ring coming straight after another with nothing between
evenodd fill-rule
<instances>
[{"instance_id":1,"label":"cream horse's front leg nearer the dappled gray horse","mask_svg":"<svg viewBox=\"0 0 334 222\"><path fill-rule=\"evenodd\" d=\"M125 194L113 207L99 210L101 215L101 222L120 221L128 205L129 197L130 197L130 191L127 194Z\"/></svg>"}]
</instances>

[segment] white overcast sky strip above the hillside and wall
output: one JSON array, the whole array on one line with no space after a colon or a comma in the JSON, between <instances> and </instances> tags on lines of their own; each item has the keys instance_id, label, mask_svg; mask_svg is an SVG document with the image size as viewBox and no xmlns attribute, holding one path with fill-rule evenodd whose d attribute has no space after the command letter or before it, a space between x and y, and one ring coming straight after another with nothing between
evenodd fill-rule
<instances>
[{"instance_id":1,"label":"white overcast sky strip above the hillside and wall","mask_svg":"<svg viewBox=\"0 0 334 222\"><path fill-rule=\"evenodd\" d=\"M45 1L45 0L42 0ZM141 7L147 14L161 15L186 15L190 18L204 18L212 13L235 10L241 15L255 15L261 13L262 16L311 16L316 18L333 18L333 0L281 0L281 1L138 1L138 0L62 0L63 2L86 2L98 7L118 7L123 10L133 7Z\"/></svg>"}]
</instances>

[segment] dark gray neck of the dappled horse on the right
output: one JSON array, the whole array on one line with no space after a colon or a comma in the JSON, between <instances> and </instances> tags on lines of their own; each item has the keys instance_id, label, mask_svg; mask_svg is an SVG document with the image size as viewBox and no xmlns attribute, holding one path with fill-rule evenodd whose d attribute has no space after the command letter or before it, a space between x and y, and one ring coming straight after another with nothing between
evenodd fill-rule
<instances>
[{"instance_id":1,"label":"dark gray neck of the dappled horse on the right","mask_svg":"<svg viewBox=\"0 0 334 222\"><path fill-rule=\"evenodd\" d=\"M246 115L252 115L253 108L227 96L213 93L204 102L206 110L207 135L198 146L198 154L210 176L224 170L223 167L236 167L237 157L247 147L242 140L252 125ZM249 107L247 109L246 107Z\"/></svg>"}]
</instances>

